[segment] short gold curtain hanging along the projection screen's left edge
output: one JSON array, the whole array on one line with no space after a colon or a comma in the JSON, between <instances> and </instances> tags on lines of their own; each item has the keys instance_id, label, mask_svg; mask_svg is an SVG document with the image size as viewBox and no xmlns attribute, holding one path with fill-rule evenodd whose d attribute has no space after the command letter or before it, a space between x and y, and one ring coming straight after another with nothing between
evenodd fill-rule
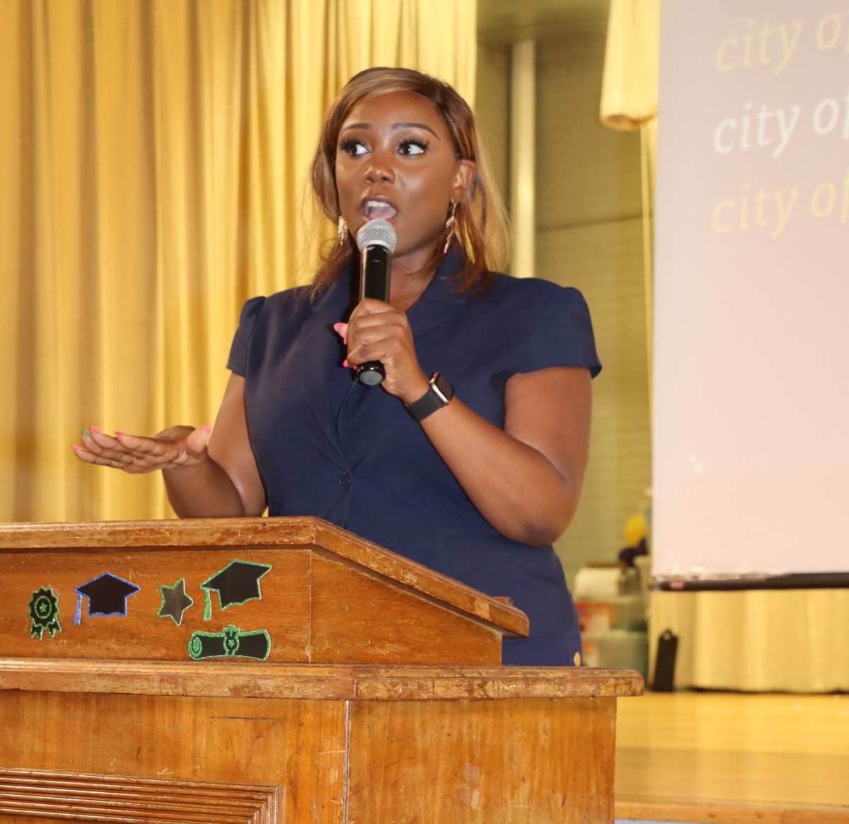
<instances>
[{"instance_id":1,"label":"short gold curtain hanging along the projection screen's left edge","mask_svg":"<svg viewBox=\"0 0 849 824\"><path fill-rule=\"evenodd\" d=\"M660 0L611 0L604 54L601 121L623 131L639 129L643 155L643 249L649 393L654 334L654 215Z\"/></svg>"}]
</instances>

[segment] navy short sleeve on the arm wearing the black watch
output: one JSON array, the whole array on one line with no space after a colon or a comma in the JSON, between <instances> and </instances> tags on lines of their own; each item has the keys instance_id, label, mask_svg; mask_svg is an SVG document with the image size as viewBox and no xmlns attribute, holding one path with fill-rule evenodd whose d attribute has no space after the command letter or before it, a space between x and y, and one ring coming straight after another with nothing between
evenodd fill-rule
<instances>
[{"instance_id":1,"label":"navy short sleeve on the arm wearing the black watch","mask_svg":"<svg viewBox=\"0 0 849 824\"><path fill-rule=\"evenodd\" d=\"M599 374L601 363L595 349L593 322L581 292L546 284L526 309L526 334L517 371L586 366L593 377Z\"/></svg>"}]
</instances>

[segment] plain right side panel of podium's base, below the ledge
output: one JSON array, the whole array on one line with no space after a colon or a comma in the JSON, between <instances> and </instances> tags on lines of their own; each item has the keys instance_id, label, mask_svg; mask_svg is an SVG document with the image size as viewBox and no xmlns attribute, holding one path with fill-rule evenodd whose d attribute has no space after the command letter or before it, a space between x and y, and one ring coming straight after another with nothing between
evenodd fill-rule
<instances>
[{"instance_id":1,"label":"plain right side panel of podium's base, below the ledge","mask_svg":"<svg viewBox=\"0 0 849 824\"><path fill-rule=\"evenodd\" d=\"M612 821L615 703L354 703L350 820Z\"/></svg>"}]
</instances>

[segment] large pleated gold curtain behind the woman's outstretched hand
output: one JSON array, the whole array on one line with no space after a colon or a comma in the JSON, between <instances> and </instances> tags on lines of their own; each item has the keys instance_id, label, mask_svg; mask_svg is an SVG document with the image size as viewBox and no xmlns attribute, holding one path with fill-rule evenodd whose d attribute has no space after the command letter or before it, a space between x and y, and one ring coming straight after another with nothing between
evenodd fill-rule
<instances>
[{"instance_id":1,"label":"large pleated gold curtain behind the woman's outstretched hand","mask_svg":"<svg viewBox=\"0 0 849 824\"><path fill-rule=\"evenodd\" d=\"M329 101L368 65L471 101L475 6L0 3L0 520L171 515L70 443L211 422L241 303L308 279Z\"/></svg>"}]
</instances>

